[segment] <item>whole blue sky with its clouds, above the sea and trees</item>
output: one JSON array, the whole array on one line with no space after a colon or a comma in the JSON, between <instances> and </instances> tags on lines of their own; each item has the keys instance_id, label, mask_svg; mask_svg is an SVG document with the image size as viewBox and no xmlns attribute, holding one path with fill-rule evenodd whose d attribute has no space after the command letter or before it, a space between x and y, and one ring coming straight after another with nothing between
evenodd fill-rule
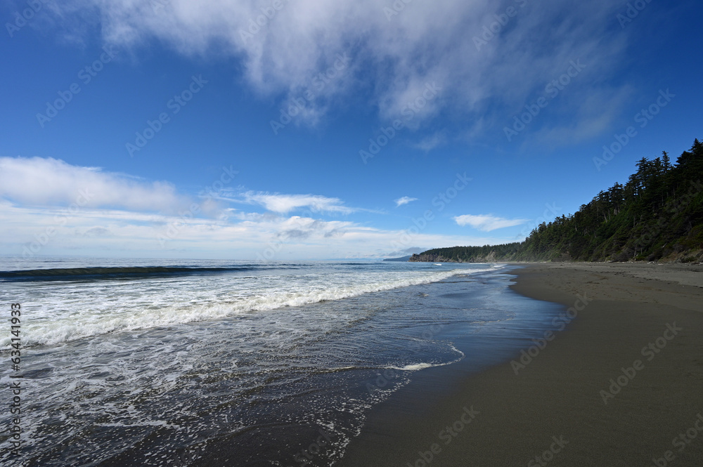
<instances>
[{"instance_id":1,"label":"whole blue sky with its clouds, above the sea and trees","mask_svg":"<svg viewBox=\"0 0 703 467\"><path fill-rule=\"evenodd\" d=\"M0 254L520 242L703 137L698 0L6 0Z\"/></svg>"}]
</instances>

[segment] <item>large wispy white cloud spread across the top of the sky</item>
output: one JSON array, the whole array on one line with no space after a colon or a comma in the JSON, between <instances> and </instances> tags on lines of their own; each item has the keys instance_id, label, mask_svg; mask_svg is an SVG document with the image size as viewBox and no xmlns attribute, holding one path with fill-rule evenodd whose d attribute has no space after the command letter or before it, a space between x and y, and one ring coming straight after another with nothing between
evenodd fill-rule
<instances>
[{"instance_id":1,"label":"large wispy white cloud spread across the top of the sky","mask_svg":"<svg viewBox=\"0 0 703 467\"><path fill-rule=\"evenodd\" d=\"M616 72L627 40L625 32L610 31L619 5L508 3L517 15L479 50L474 38L496 22L496 14L505 14L505 2L396 2L404 8L388 16L385 8L394 6L388 0L283 0L278 11L267 0L169 0L163 8L154 8L162 2L153 1L65 0L56 5L56 18L66 31L72 31L75 18L99 22L108 44L131 51L160 41L183 55L236 57L249 84L269 96L284 93L282 103L311 88L338 53L349 53L344 73L322 89L313 87L316 100L299 117L313 123L330 102L360 90L373 90L363 99L385 119L411 112L406 124L413 128L446 107L481 118L489 113L487 106L496 107L487 100L491 97L512 114L576 58L589 63L579 77L586 89L603 86L602 77ZM425 86L432 82L443 90L423 103ZM413 105L418 102L422 105ZM472 126L473 119L465 121Z\"/></svg>"}]
</instances>

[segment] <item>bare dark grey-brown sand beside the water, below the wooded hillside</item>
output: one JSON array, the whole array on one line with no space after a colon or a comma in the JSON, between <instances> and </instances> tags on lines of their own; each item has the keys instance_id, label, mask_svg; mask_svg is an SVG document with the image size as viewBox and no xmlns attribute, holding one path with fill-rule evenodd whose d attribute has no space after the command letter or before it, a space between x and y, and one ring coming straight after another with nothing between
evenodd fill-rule
<instances>
[{"instance_id":1,"label":"bare dark grey-brown sand beside the water, below the wooded hillside","mask_svg":"<svg viewBox=\"0 0 703 467\"><path fill-rule=\"evenodd\" d=\"M510 362L479 374L451 369L460 365L418 372L417 384L369 414L338 465L703 466L703 267L536 264L513 273L525 296L590 301L517 375ZM643 355L658 338L662 348ZM626 386L605 404L600 391L619 376ZM456 437L443 432L452 425Z\"/></svg>"}]
</instances>

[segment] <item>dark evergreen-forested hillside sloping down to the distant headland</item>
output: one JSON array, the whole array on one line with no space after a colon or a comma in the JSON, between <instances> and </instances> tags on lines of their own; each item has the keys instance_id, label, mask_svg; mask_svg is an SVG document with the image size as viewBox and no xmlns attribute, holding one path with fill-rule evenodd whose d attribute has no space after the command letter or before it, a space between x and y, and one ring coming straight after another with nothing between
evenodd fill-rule
<instances>
[{"instance_id":1,"label":"dark evergreen-forested hillside sloping down to the distant headland","mask_svg":"<svg viewBox=\"0 0 703 467\"><path fill-rule=\"evenodd\" d=\"M627 183L522 243L432 249L410 261L703 261L703 144L696 139L674 164L663 152L636 166Z\"/></svg>"}]
</instances>

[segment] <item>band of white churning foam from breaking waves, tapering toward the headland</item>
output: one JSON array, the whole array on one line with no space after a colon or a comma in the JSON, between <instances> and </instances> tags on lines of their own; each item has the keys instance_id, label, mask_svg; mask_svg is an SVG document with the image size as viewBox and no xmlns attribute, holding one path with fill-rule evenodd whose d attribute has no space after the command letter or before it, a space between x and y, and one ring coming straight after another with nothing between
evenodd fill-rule
<instances>
[{"instance_id":1,"label":"band of white churning foam from breaking waves, tapering toward the headland","mask_svg":"<svg viewBox=\"0 0 703 467\"><path fill-rule=\"evenodd\" d=\"M279 310L447 279L489 268L375 275L242 276L46 283L46 300L25 303L22 344L56 344L110 332L171 327L243 313ZM200 280L200 283L198 283ZM115 289L115 287L118 287ZM204 291L211 287L212 291ZM37 289L34 289L37 291ZM34 303L32 303L34 302ZM53 302L53 303L52 303ZM10 346L3 338L2 349Z\"/></svg>"}]
</instances>

